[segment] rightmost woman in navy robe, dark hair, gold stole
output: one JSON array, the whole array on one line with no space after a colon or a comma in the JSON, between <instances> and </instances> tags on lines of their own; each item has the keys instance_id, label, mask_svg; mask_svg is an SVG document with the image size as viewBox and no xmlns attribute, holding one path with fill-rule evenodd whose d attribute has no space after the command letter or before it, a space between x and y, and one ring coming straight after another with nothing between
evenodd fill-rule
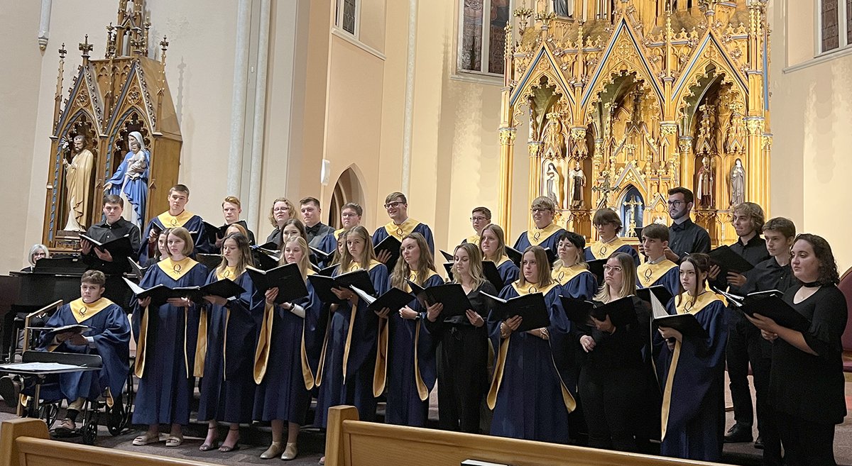
<instances>
[{"instance_id":1,"label":"rightmost woman in navy robe, dark hair, gold stole","mask_svg":"<svg viewBox=\"0 0 852 466\"><path fill-rule=\"evenodd\" d=\"M660 453L668 457L718 462L725 429L725 304L706 288L710 258L696 253L680 265L685 290L666 306L669 314L692 314L707 338L660 327L657 375L663 389ZM662 338L660 338L662 337ZM664 339L665 338L665 339Z\"/></svg>"}]
</instances>

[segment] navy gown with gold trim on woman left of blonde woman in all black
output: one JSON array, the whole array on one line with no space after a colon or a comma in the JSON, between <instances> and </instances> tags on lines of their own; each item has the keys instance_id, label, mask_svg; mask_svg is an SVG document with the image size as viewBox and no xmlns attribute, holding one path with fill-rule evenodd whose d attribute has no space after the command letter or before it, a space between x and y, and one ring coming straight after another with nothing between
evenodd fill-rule
<instances>
[{"instance_id":1,"label":"navy gown with gold trim on woman left of blonde woman in all black","mask_svg":"<svg viewBox=\"0 0 852 466\"><path fill-rule=\"evenodd\" d=\"M426 280L410 280L424 288L442 284L435 270ZM406 291L407 290L406 286ZM426 308L417 299L408 307L419 313L417 320L403 319L391 310L379 321L376 383L373 395L387 394L386 423L423 427L429 416L429 392L435 388L435 344L426 330Z\"/></svg>"}]
</instances>

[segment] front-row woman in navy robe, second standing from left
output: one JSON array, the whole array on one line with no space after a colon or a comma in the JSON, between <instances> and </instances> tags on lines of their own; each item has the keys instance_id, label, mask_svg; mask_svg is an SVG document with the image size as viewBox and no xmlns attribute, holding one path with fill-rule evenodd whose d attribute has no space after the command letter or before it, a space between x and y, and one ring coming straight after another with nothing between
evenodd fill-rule
<instances>
[{"instance_id":1,"label":"front-row woman in navy robe, second standing from left","mask_svg":"<svg viewBox=\"0 0 852 466\"><path fill-rule=\"evenodd\" d=\"M245 349L257 344L263 298L245 271L251 264L249 239L230 233L222 241L222 264L207 277L207 283L233 281L245 292L233 298L205 296L202 303L201 350L195 355L195 375L201 378L198 418L208 421L207 437L199 446L202 452L216 448L217 421L230 424L220 452L232 451L239 440L239 424L252 421L254 358Z\"/></svg>"}]
</instances>

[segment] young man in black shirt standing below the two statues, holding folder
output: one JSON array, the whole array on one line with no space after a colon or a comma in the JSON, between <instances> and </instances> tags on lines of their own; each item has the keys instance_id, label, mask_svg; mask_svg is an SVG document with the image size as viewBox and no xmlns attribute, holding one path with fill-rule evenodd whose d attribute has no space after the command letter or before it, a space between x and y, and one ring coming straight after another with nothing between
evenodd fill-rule
<instances>
[{"instance_id":1,"label":"young man in black shirt standing below the two statues, holding folder","mask_svg":"<svg viewBox=\"0 0 852 466\"><path fill-rule=\"evenodd\" d=\"M86 231L86 236L98 242L110 242L127 235L130 239L130 251L119 256L112 255L109 251L95 247L87 240L80 240L80 256L83 263L87 265L86 270L101 270L107 276L107 291L104 297L110 299L119 306L126 307L130 298L130 290L121 275L130 271L128 257L135 255L139 250L141 241L139 227L122 218L124 213L124 200L114 194L108 194L103 198L103 213L105 220L100 224L93 224Z\"/></svg>"}]
</instances>

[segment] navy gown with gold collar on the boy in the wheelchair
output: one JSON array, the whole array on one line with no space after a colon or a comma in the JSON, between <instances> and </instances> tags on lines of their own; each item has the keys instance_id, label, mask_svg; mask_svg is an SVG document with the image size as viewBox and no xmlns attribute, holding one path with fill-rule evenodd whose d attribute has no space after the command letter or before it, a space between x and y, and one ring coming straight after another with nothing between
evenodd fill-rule
<instances>
[{"instance_id":1,"label":"navy gown with gold collar on the boy in the wheelchair","mask_svg":"<svg viewBox=\"0 0 852 466\"><path fill-rule=\"evenodd\" d=\"M82 312L81 312L82 311ZM91 327L83 336L92 337L95 347L65 341L59 345L43 340L40 350L60 353L100 355L103 367L98 372L67 372L59 374L59 384L45 384L41 389L43 400L75 401L78 398L96 400L105 389L117 397L124 389L130 372L130 321L118 304L107 298L84 304L82 298L65 304L51 315L44 327L64 327L82 324Z\"/></svg>"}]
</instances>

